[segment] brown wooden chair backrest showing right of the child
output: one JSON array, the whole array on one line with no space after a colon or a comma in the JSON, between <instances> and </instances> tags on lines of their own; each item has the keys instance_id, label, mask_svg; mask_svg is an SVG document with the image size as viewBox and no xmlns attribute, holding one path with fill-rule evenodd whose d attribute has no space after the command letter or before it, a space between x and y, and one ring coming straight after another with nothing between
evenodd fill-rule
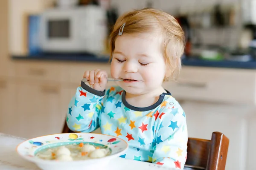
<instances>
[{"instance_id":1,"label":"brown wooden chair backrest showing right of the child","mask_svg":"<svg viewBox=\"0 0 256 170\"><path fill-rule=\"evenodd\" d=\"M220 132L213 132L212 139L188 139L187 170L224 170L229 139Z\"/></svg>"}]
</instances>

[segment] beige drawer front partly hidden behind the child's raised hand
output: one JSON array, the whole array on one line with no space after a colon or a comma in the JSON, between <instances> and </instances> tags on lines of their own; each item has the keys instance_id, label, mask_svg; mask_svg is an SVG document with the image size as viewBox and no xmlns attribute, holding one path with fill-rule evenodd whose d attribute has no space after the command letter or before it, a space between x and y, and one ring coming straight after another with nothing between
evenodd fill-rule
<instances>
[{"instance_id":1,"label":"beige drawer front partly hidden behind the child's raised hand","mask_svg":"<svg viewBox=\"0 0 256 170\"><path fill-rule=\"evenodd\" d=\"M72 64L70 65L70 82L71 83L80 83L84 72L87 70L96 70L101 69L105 70L108 73L108 77L111 77L110 74L110 63L95 63L95 62L87 62L87 63L81 63L81 64ZM110 83L110 82L108 82Z\"/></svg>"}]
</instances>

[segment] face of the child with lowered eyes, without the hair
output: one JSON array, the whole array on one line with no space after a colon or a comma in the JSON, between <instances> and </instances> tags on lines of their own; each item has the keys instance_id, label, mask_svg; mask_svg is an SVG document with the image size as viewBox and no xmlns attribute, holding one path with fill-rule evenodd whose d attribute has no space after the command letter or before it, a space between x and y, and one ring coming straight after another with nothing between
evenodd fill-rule
<instances>
[{"instance_id":1,"label":"face of the child with lowered eyes, without the hair","mask_svg":"<svg viewBox=\"0 0 256 170\"><path fill-rule=\"evenodd\" d=\"M111 62L113 78L131 79L117 84L131 94L161 88L166 73L159 36L123 34L116 39Z\"/></svg>"}]
</instances>

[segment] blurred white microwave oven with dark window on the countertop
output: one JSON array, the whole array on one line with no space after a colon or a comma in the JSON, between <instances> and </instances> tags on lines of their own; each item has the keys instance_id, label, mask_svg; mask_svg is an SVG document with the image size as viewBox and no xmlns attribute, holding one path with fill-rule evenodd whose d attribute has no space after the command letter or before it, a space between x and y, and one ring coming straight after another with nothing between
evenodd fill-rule
<instances>
[{"instance_id":1,"label":"blurred white microwave oven with dark window on the countertop","mask_svg":"<svg viewBox=\"0 0 256 170\"><path fill-rule=\"evenodd\" d=\"M107 16L100 6L53 8L40 17L42 51L100 54L105 50Z\"/></svg>"}]
</instances>

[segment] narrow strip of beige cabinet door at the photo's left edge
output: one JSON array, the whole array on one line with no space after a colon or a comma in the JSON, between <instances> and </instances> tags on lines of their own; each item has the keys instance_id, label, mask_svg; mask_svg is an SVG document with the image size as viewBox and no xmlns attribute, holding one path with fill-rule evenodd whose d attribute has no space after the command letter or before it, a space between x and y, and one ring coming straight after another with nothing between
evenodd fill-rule
<instances>
[{"instance_id":1,"label":"narrow strip of beige cabinet door at the photo's left edge","mask_svg":"<svg viewBox=\"0 0 256 170\"><path fill-rule=\"evenodd\" d=\"M2 133L18 135L16 97L15 82L0 77L0 131Z\"/></svg>"}]
</instances>

